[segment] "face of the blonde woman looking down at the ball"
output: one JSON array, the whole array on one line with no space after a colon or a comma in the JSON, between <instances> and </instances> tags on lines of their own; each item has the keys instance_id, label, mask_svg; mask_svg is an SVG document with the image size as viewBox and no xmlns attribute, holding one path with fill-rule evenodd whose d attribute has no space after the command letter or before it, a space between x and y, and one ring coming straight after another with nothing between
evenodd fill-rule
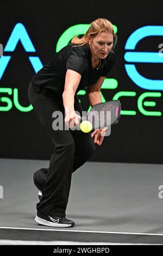
<instances>
[{"instance_id":1,"label":"face of the blonde woman looking down at the ball","mask_svg":"<svg viewBox=\"0 0 163 256\"><path fill-rule=\"evenodd\" d=\"M109 32L102 32L96 35L95 38L92 38L90 35L88 37L92 57L106 58L113 46L113 35Z\"/></svg>"}]
</instances>

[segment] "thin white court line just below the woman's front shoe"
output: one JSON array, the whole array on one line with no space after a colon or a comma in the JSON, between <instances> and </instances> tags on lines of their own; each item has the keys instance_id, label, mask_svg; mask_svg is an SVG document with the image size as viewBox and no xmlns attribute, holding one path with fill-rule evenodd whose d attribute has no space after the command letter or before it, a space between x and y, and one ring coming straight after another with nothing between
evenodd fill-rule
<instances>
[{"instance_id":1,"label":"thin white court line just below the woman's front shoe","mask_svg":"<svg viewBox=\"0 0 163 256\"><path fill-rule=\"evenodd\" d=\"M123 235L158 235L152 233L130 233L130 232L111 232L111 231L90 231L90 230L70 230L70 229L43 229L43 228L12 228L12 227L0 227L0 229L21 229L21 230L43 230L43 231L67 231L67 232L82 232L82 233L101 233L101 234L123 234Z\"/></svg>"}]
</instances>

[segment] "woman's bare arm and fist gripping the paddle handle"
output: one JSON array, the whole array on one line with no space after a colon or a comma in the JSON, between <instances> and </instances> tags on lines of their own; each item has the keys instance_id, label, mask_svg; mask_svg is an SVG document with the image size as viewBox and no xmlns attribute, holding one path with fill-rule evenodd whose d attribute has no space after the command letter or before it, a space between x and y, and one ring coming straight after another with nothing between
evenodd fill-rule
<instances>
[{"instance_id":1,"label":"woman's bare arm and fist gripping the paddle handle","mask_svg":"<svg viewBox=\"0 0 163 256\"><path fill-rule=\"evenodd\" d=\"M74 95L79 86L80 79L81 75L78 72L67 69L62 99L65 108L65 123L68 127L70 127L69 124L72 120L73 126L79 124L79 115L74 111Z\"/></svg>"}]
</instances>

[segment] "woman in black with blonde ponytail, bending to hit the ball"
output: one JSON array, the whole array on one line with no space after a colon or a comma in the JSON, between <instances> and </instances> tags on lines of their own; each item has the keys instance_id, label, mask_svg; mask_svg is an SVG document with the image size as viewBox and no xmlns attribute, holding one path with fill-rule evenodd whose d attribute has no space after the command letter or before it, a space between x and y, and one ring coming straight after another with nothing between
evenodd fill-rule
<instances>
[{"instance_id":1,"label":"woman in black with blonde ponytail, bending to hit the ball","mask_svg":"<svg viewBox=\"0 0 163 256\"><path fill-rule=\"evenodd\" d=\"M42 193L36 205L35 221L39 224L64 228L74 225L66 218L72 173L95 153L95 143L102 144L105 130L92 134L54 130L52 114L60 111L70 128L70 123L78 125L76 111L80 115L83 111L77 96L79 90L86 90L91 106L101 102L100 89L115 63L116 41L111 22L97 19L82 38L74 36L71 44L55 53L30 82L30 103L54 144L49 167L34 173L34 183Z\"/></svg>"}]
</instances>

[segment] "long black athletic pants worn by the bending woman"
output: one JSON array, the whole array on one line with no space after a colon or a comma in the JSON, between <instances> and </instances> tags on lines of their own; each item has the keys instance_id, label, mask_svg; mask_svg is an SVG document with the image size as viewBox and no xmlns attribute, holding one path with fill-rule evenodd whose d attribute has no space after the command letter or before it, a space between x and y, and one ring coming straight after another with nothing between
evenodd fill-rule
<instances>
[{"instance_id":1,"label":"long black athletic pants worn by the bending woman","mask_svg":"<svg viewBox=\"0 0 163 256\"><path fill-rule=\"evenodd\" d=\"M71 186L72 173L82 166L95 153L96 147L91 132L80 130L53 130L54 111L61 111L65 117L62 96L52 90L36 93L32 84L28 88L29 101L41 124L51 137L54 151L48 168L36 172L37 184L43 197L37 203L37 211L51 216L66 216L66 206ZM74 110L82 115L82 106L77 95L74 96Z\"/></svg>"}]
</instances>

